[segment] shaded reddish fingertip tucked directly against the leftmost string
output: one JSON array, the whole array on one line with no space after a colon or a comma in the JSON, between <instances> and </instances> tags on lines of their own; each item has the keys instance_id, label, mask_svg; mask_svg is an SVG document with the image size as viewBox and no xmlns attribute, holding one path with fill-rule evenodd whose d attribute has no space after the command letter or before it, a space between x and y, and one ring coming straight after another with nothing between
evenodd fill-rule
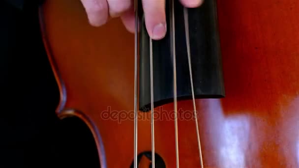
<instances>
[{"instance_id":1,"label":"shaded reddish fingertip tucked directly against the leftmost string","mask_svg":"<svg viewBox=\"0 0 299 168\"><path fill-rule=\"evenodd\" d=\"M131 7L129 10L124 12L120 19L124 25L124 27L131 33L135 32L135 12L134 8Z\"/></svg>"}]
</instances>

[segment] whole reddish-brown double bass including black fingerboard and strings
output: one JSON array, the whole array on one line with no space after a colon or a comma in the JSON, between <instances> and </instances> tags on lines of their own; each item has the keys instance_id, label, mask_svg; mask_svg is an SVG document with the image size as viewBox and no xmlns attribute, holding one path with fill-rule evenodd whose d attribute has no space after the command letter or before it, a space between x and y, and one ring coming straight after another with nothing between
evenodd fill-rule
<instances>
[{"instance_id":1,"label":"whole reddish-brown double bass including black fingerboard and strings","mask_svg":"<svg viewBox=\"0 0 299 168\"><path fill-rule=\"evenodd\" d=\"M86 123L101 167L299 167L298 0L167 0L158 41L135 4L135 34L79 0L39 11L57 115Z\"/></svg>"}]
</instances>

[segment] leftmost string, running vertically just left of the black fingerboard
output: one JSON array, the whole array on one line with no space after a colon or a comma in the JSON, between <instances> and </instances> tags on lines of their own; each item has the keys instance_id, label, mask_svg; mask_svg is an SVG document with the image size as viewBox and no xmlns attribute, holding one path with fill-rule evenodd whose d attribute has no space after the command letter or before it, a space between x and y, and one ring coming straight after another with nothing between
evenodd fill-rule
<instances>
[{"instance_id":1,"label":"leftmost string, running vertically just left of the black fingerboard","mask_svg":"<svg viewBox=\"0 0 299 168\"><path fill-rule=\"evenodd\" d=\"M138 0L135 0L134 168L137 168Z\"/></svg>"}]
</instances>

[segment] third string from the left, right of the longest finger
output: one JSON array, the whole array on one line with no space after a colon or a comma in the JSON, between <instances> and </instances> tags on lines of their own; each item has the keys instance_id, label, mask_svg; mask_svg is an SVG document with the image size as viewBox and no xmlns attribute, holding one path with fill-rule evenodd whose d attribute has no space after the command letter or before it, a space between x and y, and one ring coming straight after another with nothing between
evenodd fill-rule
<instances>
[{"instance_id":1,"label":"third string from the left, right of the longest finger","mask_svg":"<svg viewBox=\"0 0 299 168\"><path fill-rule=\"evenodd\" d=\"M173 56L173 73L174 73L174 112L175 112L175 140L176 140L176 161L179 168L179 140L178 140L178 104L177 104L177 65L176 65L176 34L175 34L175 11L174 0L170 0L170 40L171 54Z\"/></svg>"}]
</instances>

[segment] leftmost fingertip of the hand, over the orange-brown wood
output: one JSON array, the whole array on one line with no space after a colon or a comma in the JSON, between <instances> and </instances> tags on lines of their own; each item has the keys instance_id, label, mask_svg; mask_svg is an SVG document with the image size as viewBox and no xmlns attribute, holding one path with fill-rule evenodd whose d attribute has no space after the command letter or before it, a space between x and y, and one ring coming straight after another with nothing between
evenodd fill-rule
<instances>
[{"instance_id":1,"label":"leftmost fingertip of the hand, over the orange-brown wood","mask_svg":"<svg viewBox=\"0 0 299 168\"><path fill-rule=\"evenodd\" d=\"M90 25L99 27L108 20L108 4L106 0L81 0Z\"/></svg>"}]
</instances>

